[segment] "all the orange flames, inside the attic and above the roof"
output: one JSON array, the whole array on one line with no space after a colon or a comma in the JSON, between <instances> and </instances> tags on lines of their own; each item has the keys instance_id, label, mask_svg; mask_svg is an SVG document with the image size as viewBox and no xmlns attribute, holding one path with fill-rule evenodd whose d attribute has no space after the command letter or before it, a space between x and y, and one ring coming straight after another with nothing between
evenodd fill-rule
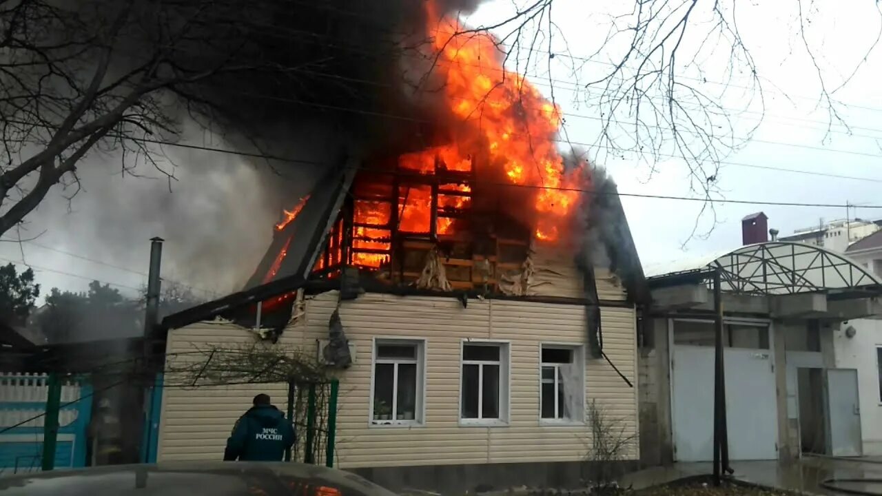
<instances>
[{"instance_id":1,"label":"all the orange flames, inside the attic and above the roof","mask_svg":"<svg viewBox=\"0 0 882 496\"><path fill-rule=\"evenodd\" d=\"M557 151L560 110L527 79L505 69L491 34L456 35L464 31L457 19L446 18L436 25L435 0L425 5L432 23L427 55L437 60L434 71L442 83L437 87L443 88L433 95L459 124L447 130L451 142L403 154L398 166L411 176L435 177L437 205L433 205L433 186L418 180L402 182L398 198L391 203L370 199L374 195L391 199L392 188L379 177L369 181L371 191L364 192L369 199L355 200L352 262L363 267L388 263L392 233L429 234L433 207L437 207L435 232L452 234L455 219L471 203L470 196L463 194L471 192L467 177L477 177L479 185L501 181L522 186L516 190L522 201L510 208L528 209L536 240L556 241L579 199L579 172L566 171ZM276 229L291 222L305 200L286 212L286 220Z\"/></svg>"}]
</instances>

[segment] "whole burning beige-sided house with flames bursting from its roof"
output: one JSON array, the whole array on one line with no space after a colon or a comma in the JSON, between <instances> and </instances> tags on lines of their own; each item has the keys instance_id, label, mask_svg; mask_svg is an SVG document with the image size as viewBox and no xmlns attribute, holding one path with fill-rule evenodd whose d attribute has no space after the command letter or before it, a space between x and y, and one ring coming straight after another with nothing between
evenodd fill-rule
<instances>
[{"instance_id":1,"label":"whole burning beige-sided house with flames bursting from its roof","mask_svg":"<svg viewBox=\"0 0 882 496\"><path fill-rule=\"evenodd\" d=\"M326 170L241 292L163 320L168 353L314 353L340 380L339 466L392 489L578 484L590 402L638 430L639 259L615 185L559 151L557 106L445 26L431 138ZM254 389L167 388L158 459L217 459Z\"/></svg>"}]
</instances>

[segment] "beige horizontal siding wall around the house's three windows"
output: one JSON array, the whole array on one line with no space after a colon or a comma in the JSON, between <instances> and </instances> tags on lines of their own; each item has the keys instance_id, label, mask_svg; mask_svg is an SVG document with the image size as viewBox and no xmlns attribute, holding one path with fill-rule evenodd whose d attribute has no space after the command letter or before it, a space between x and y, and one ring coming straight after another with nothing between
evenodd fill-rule
<instances>
[{"instance_id":1,"label":"beige horizontal siding wall around the house's three windows","mask_svg":"<svg viewBox=\"0 0 882 496\"><path fill-rule=\"evenodd\" d=\"M327 335L336 292L308 300L303 319L286 330L283 344L316 349ZM340 372L338 462L340 467L379 467L483 462L578 460L586 452L585 426L549 426L539 421L541 342L585 342L584 308L506 300L394 297L366 294L340 305L340 318L355 343L353 366ZM628 387L605 360L587 360L587 400L596 399L627 431L638 429L635 319L630 308L603 308L603 343L610 360L635 385ZM373 338L426 340L425 424L371 427L370 376ZM459 425L460 346L464 339L510 342L510 423L499 427ZM169 351L198 343L253 339L229 325L201 323L169 334ZM265 389L265 387L260 387ZM163 400L160 460L218 459L235 418L249 406L255 387L229 391L168 388ZM284 397L284 387L269 393ZM632 458L637 458L636 443Z\"/></svg>"}]
</instances>

